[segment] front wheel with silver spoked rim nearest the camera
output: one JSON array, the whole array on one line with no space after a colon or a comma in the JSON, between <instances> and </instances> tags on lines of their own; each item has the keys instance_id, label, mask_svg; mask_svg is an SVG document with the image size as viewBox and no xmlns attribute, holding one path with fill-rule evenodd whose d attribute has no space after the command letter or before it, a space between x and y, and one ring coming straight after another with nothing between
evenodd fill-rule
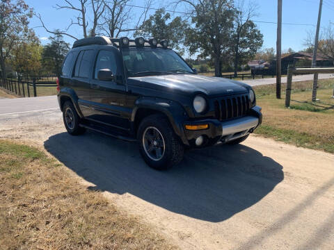
<instances>
[{"instance_id":1,"label":"front wheel with silver spoked rim nearest the camera","mask_svg":"<svg viewBox=\"0 0 334 250\"><path fill-rule=\"evenodd\" d=\"M180 163L184 146L164 115L150 115L138 127L141 156L154 169L169 169Z\"/></svg>"}]
</instances>

